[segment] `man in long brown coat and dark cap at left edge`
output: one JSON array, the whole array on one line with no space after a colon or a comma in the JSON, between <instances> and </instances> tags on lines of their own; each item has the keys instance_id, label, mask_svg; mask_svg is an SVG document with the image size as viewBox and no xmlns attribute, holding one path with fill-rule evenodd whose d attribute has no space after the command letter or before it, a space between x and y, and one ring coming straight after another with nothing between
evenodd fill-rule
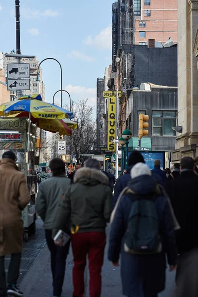
<instances>
[{"instance_id":1,"label":"man in long brown coat and dark cap at left edge","mask_svg":"<svg viewBox=\"0 0 198 297\"><path fill-rule=\"evenodd\" d=\"M0 160L0 297L23 296L17 287L23 248L22 210L30 201L25 175L16 166L16 155L6 151ZM11 259L5 278L5 255Z\"/></svg>"}]
</instances>

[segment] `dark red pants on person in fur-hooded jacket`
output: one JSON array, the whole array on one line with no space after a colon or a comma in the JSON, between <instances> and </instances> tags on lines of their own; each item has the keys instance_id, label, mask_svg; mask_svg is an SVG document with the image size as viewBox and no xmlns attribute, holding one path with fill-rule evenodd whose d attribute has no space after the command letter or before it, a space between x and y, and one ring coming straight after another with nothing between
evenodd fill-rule
<instances>
[{"instance_id":1,"label":"dark red pants on person in fur-hooded jacket","mask_svg":"<svg viewBox=\"0 0 198 297\"><path fill-rule=\"evenodd\" d=\"M100 297L101 268L104 258L106 235L104 232L77 233L71 237L74 256L73 297L83 297L85 294L84 271L88 254L90 271L90 297Z\"/></svg>"}]
</instances>

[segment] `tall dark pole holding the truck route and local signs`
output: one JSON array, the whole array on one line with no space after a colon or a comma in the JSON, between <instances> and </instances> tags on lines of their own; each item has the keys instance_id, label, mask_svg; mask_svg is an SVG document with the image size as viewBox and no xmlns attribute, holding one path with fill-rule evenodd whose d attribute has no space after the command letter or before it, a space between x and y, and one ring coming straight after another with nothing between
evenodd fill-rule
<instances>
[{"instance_id":1,"label":"tall dark pole holding the truck route and local signs","mask_svg":"<svg viewBox=\"0 0 198 297\"><path fill-rule=\"evenodd\" d=\"M21 54L21 41L20 41L20 1L15 0L15 12L16 12L16 54ZM21 63L21 57L17 57L17 63ZM17 100L22 96L21 90L16 90Z\"/></svg>"}]
</instances>

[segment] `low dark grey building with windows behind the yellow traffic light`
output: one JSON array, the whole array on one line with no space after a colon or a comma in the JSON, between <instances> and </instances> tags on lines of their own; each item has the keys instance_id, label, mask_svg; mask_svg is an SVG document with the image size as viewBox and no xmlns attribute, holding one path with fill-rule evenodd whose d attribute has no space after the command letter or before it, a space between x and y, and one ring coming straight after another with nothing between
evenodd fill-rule
<instances>
[{"instance_id":1,"label":"low dark grey building with windows behind the yellow traffic light","mask_svg":"<svg viewBox=\"0 0 198 297\"><path fill-rule=\"evenodd\" d=\"M171 152L176 138L172 127L177 125L177 87L143 83L140 90L131 91L126 107L126 129L131 130L133 135L129 144L132 149L138 144L140 113L149 116L149 134L143 137L142 147Z\"/></svg>"}]
</instances>

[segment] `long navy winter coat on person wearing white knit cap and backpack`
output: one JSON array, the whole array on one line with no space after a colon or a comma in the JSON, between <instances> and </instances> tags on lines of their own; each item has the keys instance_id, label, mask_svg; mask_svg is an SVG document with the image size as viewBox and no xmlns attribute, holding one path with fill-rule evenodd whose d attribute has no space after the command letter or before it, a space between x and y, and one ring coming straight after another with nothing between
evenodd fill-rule
<instances>
[{"instance_id":1,"label":"long navy winter coat on person wearing white knit cap and backpack","mask_svg":"<svg viewBox=\"0 0 198 297\"><path fill-rule=\"evenodd\" d=\"M131 181L130 189L138 196L154 193L156 182L151 176L140 176ZM121 253L121 278L123 295L145 297L157 294L165 287L166 259L170 265L176 264L177 250L174 236L173 218L167 199L156 198L154 204L159 217L162 251L153 255L132 255L124 251L124 236L132 206L128 196L122 196L111 224L108 259L116 262Z\"/></svg>"}]
</instances>

